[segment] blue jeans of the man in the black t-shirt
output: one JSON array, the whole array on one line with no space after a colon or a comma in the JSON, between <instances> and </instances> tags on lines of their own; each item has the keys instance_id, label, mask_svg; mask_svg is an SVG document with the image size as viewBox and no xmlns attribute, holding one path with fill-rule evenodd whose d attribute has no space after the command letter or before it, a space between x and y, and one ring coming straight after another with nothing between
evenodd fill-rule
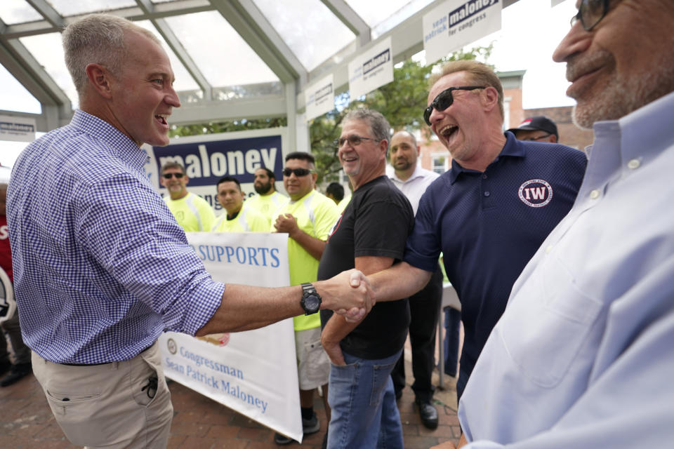
<instances>
[{"instance_id":1,"label":"blue jeans of the man in the black t-shirt","mask_svg":"<svg viewBox=\"0 0 674 449\"><path fill-rule=\"evenodd\" d=\"M402 449L402 425L390 376L401 353L402 349L376 360L344 353L345 366L331 365L328 449Z\"/></svg>"}]
</instances>

